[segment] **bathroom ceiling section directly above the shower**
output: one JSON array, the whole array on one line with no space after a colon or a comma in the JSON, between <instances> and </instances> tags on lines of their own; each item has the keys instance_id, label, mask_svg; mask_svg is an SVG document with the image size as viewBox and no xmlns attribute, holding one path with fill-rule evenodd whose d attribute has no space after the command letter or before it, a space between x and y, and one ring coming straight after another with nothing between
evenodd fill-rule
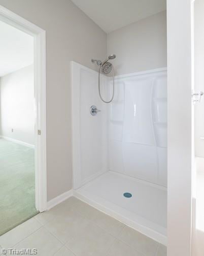
<instances>
[{"instance_id":1,"label":"bathroom ceiling section directly above the shower","mask_svg":"<svg viewBox=\"0 0 204 256\"><path fill-rule=\"evenodd\" d=\"M106 33L166 10L166 0L72 0Z\"/></svg>"}]
</instances>

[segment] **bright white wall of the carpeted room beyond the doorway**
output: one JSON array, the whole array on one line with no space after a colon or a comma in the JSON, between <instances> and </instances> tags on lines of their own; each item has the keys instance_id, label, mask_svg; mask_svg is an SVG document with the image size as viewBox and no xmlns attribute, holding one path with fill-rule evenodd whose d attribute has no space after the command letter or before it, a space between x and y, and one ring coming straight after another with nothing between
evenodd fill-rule
<instances>
[{"instance_id":1,"label":"bright white wall of the carpeted room beyond the doorway","mask_svg":"<svg viewBox=\"0 0 204 256\"><path fill-rule=\"evenodd\" d=\"M35 144L33 99L33 65L1 77L1 136Z\"/></svg>"}]
</instances>

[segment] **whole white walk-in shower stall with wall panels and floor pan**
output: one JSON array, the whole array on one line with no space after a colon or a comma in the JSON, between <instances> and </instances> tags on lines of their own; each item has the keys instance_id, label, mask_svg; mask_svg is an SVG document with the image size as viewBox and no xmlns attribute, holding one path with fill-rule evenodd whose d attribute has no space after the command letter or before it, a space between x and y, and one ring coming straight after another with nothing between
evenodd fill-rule
<instances>
[{"instance_id":1,"label":"whole white walk-in shower stall with wall panels and floor pan","mask_svg":"<svg viewBox=\"0 0 204 256\"><path fill-rule=\"evenodd\" d=\"M72 62L74 195L166 244L166 69L112 75Z\"/></svg>"}]
</instances>

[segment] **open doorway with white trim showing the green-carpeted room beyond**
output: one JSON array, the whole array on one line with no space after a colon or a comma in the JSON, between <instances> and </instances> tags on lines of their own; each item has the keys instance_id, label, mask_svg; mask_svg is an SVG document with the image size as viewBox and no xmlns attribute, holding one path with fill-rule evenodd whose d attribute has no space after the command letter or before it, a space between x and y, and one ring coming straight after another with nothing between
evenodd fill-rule
<instances>
[{"instance_id":1,"label":"open doorway with white trim showing the green-carpeted room beyond","mask_svg":"<svg viewBox=\"0 0 204 256\"><path fill-rule=\"evenodd\" d=\"M45 30L2 6L0 22L2 235L47 209L46 61Z\"/></svg>"}]
</instances>

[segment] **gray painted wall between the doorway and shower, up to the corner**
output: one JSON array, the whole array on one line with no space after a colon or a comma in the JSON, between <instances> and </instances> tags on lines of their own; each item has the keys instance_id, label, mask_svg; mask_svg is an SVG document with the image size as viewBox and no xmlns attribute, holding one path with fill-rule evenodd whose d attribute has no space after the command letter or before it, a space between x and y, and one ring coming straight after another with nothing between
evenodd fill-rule
<instances>
[{"instance_id":1,"label":"gray painted wall between the doorway and shower, up to the corner","mask_svg":"<svg viewBox=\"0 0 204 256\"><path fill-rule=\"evenodd\" d=\"M48 200L72 188L70 61L93 68L104 59L107 36L70 0L0 0L0 5L47 33Z\"/></svg>"}]
</instances>

